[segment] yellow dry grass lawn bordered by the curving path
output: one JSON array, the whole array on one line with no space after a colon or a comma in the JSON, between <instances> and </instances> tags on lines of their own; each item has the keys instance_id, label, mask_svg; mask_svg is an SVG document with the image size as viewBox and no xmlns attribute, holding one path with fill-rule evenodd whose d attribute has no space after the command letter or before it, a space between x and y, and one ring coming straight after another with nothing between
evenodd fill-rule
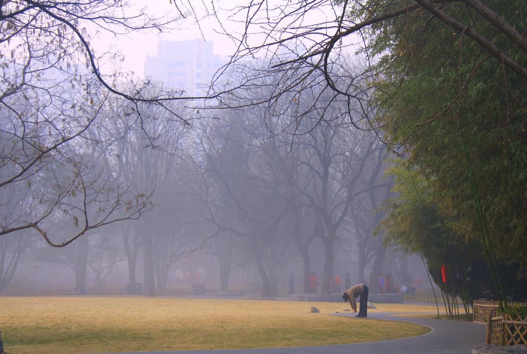
<instances>
[{"instance_id":1,"label":"yellow dry grass lawn bordered by the curving path","mask_svg":"<svg viewBox=\"0 0 527 354\"><path fill-rule=\"evenodd\" d=\"M311 306L320 313L311 313ZM1 297L0 330L7 354L316 346L428 331L411 323L329 316L347 308L344 302ZM379 305L377 311L387 310Z\"/></svg>"}]
</instances>

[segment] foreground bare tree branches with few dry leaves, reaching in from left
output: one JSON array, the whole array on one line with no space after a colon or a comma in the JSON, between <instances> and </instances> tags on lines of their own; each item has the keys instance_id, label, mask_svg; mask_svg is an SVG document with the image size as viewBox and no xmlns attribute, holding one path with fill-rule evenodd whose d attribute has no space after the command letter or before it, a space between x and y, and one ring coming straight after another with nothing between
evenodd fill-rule
<instances>
[{"instance_id":1,"label":"foreground bare tree branches with few dry leaves, reaching in from left","mask_svg":"<svg viewBox=\"0 0 527 354\"><path fill-rule=\"evenodd\" d=\"M0 2L0 188L31 183L32 198L37 200L30 213L16 217L2 213L0 236L33 229L51 246L63 247L90 229L142 214L144 196L95 177L90 171L93 161L79 149L109 100L120 97L128 102L134 123L147 118L140 107L147 104L187 124L170 105L182 96L145 89L150 83L121 90L119 83L129 77L116 68L100 69L100 63L119 62L119 54L97 54L92 42L103 34L119 37L171 29L193 14L190 2L177 5L174 14L156 18L126 1ZM62 176L56 175L57 168ZM87 175L91 177L86 179ZM84 203L79 199L74 206L64 203L72 193L82 196ZM79 219L79 228L54 239L46 220L57 211L72 209L80 213L72 216Z\"/></svg>"}]
</instances>

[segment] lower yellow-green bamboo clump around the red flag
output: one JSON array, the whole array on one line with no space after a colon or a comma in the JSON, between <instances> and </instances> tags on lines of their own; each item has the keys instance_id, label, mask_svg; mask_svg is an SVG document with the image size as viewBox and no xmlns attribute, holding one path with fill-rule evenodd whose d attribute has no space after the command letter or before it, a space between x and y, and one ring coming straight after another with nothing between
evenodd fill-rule
<instances>
[{"instance_id":1,"label":"lower yellow-green bamboo clump around the red flag","mask_svg":"<svg viewBox=\"0 0 527 354\"><path fill-rule=\"evenodd\" d=\"M434 282L444 294L460 297L465 304L477 298L496 298L496 289L489 268L483 257L483 247L478 238L461 237L450 226L447 218L433 199L431 187L417 169L407 161L399 161L389 173L395 176L397 197L389 199L391 210L383 227L386 241L408 253L422 255ZM445 265L446 284L442 281L441 267ZM518 279L518 264L501 262L506 295L513 300L524 300L527 279Z\"/></svg>"}]
</instances>

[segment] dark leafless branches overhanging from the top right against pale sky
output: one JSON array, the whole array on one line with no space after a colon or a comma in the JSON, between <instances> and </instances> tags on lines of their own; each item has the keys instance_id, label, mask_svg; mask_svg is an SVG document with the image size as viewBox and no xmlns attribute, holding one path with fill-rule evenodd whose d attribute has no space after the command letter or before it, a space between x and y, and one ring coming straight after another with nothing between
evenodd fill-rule
<instances>
[{"instance_id":1,"label":"dark leafless branches overhanging from the top right against pale sky","mask_svg":"<svg viewBox=\"0 0 527 354\"><path fill-rule=\"evenodd\" d=\"M463 33L488 57L500 60L512 72L527 78L524 64L508 55L510 47L497 47L478 28L456 19L460 6L472 9L481 16L481 21L492 24L510 39L510 46L527 51L524 34L480 0L259 0L230 9L216 7L218 22L221 22L219 14L229 14L229 22L220 23L223 34L238 44L225 69L229 80L218 80L226 83L219 90L234 90L231 96L222 96L222 104L229 107L264 104L269 113L281 115L284 101L294 104L306 91L323 84L325 89L319 90L318 98L309 108L297 112L284 130L302 134L297 129L299 120L313 112L318 112L320 119L327 119L323 115L325 107L337 100L348 104L349 121L357 128L377 130L372 113L378 102L372 104L371 98L376 80L383 73L375 64L387 53L375 52L371 44L387 35L383 29L386 23L401 18L414 21L417 16L443 22L453 31ZM231 26L242 31L234 33ZM352 58L354 54L358 56ZM255 69L255 61L265 64ZM233 77L238 79L233 82ZM243 89L259 86L272 90L256 100L243 93Z\"/></svg>"}]
</instances>

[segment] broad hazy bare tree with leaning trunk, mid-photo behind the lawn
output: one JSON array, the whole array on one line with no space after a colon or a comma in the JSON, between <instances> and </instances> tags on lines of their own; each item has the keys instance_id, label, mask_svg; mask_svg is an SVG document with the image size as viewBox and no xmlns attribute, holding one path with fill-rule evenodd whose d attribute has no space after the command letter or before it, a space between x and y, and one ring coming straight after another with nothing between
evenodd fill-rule
<instances>
[{"instance_id":1,"label":"broad hazy bare tree with leaning trunk, mid-photo behind the lawn","mask_svg":"<svg viewBox=\"0 0 527 354\"><path fill-rule=\"evenodd\" d=\"M266 266L266 257L277 256L269 247L277 241L287 215L288 206L281 198L284 179L261 152L266 139L259 134L268 130L261 120L255 119L258 114L223 113L220 122L203 127L200 132L199 149L209 176L203 203L208 207L209 221L219 232L232 232L247 242L262 280L262 294L270 296L276 292L271 289L276 281L268 267L270 263ZM219 191L216 195L228 196L236 210L236 224L229 226L220 218L221 213L209 198L211 187Z\"/></svg>"}]
</instances>

